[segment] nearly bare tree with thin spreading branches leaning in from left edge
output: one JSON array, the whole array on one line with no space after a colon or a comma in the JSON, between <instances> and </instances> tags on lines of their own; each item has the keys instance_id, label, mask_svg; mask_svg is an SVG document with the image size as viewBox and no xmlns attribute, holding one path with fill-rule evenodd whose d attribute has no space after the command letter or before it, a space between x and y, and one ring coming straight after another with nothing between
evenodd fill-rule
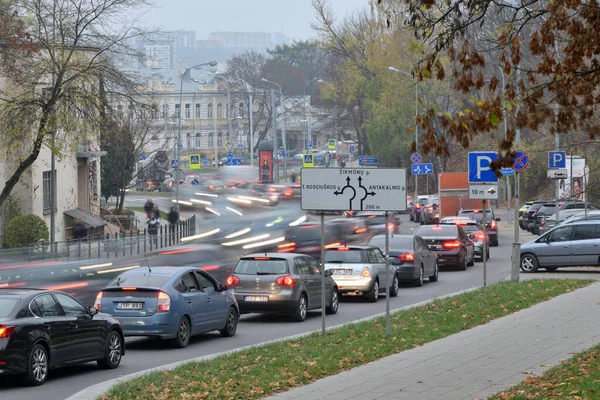
<instances>
[{"instance_id":1,"label":"nearly bare tree with thin spreading branches leaning in from left edge","mask_svg":"<svg viewBox=\"0 0 600 400\"><path fill-rule=\"evenodd\" d=\"M3 3L5 4L5 3ZM44 146L60 160L94 138L101 126L98 86L133 94L134 80L114 64L138 56L126 41L140 32L131 9L146 0L14 0L10 29L0 29L0 147L8 180L0 206ZM6 13L3 13L6 18ZM1 24L0 24L1 25ZM15 27L14 29L12 27ZM8 33L6 33L8 31Z\"/></svg>"}]
</instances>

